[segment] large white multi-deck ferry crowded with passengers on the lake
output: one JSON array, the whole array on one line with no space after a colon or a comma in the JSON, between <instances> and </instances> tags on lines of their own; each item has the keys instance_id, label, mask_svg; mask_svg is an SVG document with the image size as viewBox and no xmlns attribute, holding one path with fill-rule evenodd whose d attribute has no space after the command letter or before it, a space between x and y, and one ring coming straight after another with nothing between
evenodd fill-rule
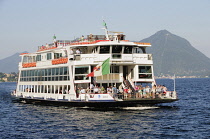
<instances>
[{"instance_id":1,"label":"large white multi-deck ferry crowded with passengers on the lake","mask_svg":"<svg viewBox=\"0 0 210 139\"><path fill-rule=\"evenodd\" d=\"M17 88L26 103L131 107L177 101L176 91L156 85L150 43L125 40L122 32L57 40L22 53Z\"/></svg>"}]
</instances>

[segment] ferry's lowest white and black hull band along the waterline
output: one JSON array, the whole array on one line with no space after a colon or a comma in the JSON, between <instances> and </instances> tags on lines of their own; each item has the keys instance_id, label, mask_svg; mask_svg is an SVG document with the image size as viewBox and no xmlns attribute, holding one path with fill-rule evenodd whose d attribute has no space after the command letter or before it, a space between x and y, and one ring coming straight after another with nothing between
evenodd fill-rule
<instances>
[{"instance_id":1,"label":"ferry's lowest white and black hull band along the waterline","mask_svg":"<svg viewBox=\"0 0 210 139\"><path fill-rule=\"evenodd\" d=\"M46 93L20 93L14 92L13 96L26 103L38 103L49 105L79 106L79 107L131 107L138 105L154 105L177 101L176 92L167 91L166 94L143 94L138 92L131 94L54 94Z\"/></svg>"}]
</instances>

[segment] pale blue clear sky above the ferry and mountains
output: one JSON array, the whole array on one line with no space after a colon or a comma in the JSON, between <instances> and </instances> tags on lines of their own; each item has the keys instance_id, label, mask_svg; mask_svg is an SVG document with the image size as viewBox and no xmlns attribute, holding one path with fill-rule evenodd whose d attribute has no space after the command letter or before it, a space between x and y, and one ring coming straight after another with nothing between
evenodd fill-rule
<instances>
[{"instance_id":1,"label":"pale blue clear sky above the ferry and mountains","mask_svg":"<svg viewBox=\"0 0 210 139\"><path fill-rule=\"evenodd\" d=\"M166 29L210 57L210 0L0 0L0 59L90 33L140 41Z\"/></svg>"}]
</instances>

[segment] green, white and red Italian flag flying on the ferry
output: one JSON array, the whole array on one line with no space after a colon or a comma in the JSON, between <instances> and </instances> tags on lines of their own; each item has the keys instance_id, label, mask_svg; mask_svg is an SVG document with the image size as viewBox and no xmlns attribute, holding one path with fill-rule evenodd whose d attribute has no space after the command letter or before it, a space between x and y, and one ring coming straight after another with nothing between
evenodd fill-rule
<instances>
[{"instance_id":1,"label":"green, white and red Italian flag flying on the ferry","mask_svg":"<svg viewBox=\"0 0 210 139\"><path fill-rule=\"evenodd\" d=\"M95 76L102 76L106 74L110 74L110 58L103 61L103 63L98 64L94 67L93 72L89 73L87 77L95 77Z\"/></svg>"}]
</instances>

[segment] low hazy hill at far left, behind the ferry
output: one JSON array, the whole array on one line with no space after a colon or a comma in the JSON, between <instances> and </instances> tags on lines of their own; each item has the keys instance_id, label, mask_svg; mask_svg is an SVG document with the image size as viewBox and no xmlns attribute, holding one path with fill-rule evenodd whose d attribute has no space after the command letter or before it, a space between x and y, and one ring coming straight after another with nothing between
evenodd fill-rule
<instances>
[{"instance_id":1,"label":"low hazy hill at far left, behind the ferry","mask_svg":"<svg viewBox=\"0 0 210 139\"><path fill-rule=\"evenodd\" d=\"M27 53L27 52L23 52ZM11 73L18 72L18 64L20 62L21 53L15 53L12 56L0 60L0 72Z\"/></svg>"}]
</instances>

